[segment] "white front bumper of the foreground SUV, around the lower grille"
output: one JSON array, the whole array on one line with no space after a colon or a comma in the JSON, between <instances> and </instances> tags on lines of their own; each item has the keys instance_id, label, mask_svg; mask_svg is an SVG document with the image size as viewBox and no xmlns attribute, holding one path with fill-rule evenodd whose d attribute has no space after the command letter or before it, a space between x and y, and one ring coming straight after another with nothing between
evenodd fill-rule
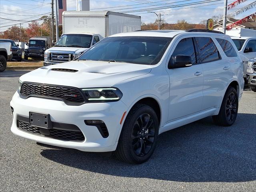
<instances>
[{"instance_id":1,"label":"white front bumper of the foreground SUV, around the lower grille","mask_svg":"<svg viewBox=\"0 0 256 192\"><path fill-rule=\"evenodd\" d=\"M116 150L118 135L120 134L120 120L127 110L122 101L106 103L86 103L80 106L68 106L60 100L30 97L20 98L18 92L10 102L13 108L13 122L11 131L23 138L40 143L74 148L88 152L108 152ZM29 112L50 114L53 122L76 125L84 134L83 142L72 142L60 139L47 138L17 128L17 116L28 117ZM108 128L109 136L103 138L96 126L88 126L84 120L102 120Z\"/></svg>"}]
</instances>

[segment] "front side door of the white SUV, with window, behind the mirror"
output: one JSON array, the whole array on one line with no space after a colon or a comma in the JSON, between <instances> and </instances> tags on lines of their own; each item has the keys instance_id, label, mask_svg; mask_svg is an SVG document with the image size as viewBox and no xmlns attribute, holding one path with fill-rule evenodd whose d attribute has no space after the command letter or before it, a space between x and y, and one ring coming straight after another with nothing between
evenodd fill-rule
<instances>
[{"instance_id":1,"label":"front side door of the white SUV, with window, behind the mirror","mask_svg":"<svg viewBox=\"0 0 256 192\"><path fill-rule=\"evenodd\" d=\"M171 50L168 61L176 55L187 55L192 59L192 66L168 69L170 78L170 101L168 121L174 121L202 109L203 69L197 63L194 41L191 37L179 38Z\"/></svg>"}]
</instances>

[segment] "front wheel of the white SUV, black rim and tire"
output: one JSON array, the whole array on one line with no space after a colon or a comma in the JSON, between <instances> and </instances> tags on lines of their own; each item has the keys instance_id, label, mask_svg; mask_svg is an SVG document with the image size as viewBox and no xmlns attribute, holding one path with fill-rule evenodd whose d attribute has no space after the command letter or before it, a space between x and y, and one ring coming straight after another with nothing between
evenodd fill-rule
<instances>
[{"instance_id":1,"label":"front wheel of the white SUV, black rim and tire","mask_svg":"<svg viewBox=\"0 0 256 192\"><path fill-rule=\"evenodd\" d=\"M146 162L158 139L158 118L148 105L136 104L129 112L116 148L116 157L131 164Z\"/></svg>"}]
</instances>

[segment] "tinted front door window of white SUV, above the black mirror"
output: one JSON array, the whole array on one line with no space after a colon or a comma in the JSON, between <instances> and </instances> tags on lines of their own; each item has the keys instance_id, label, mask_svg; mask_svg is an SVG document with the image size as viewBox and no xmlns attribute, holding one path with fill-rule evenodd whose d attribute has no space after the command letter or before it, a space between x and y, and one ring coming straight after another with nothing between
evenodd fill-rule
<instances>
[{"instance_id":1,"label":"tinted front door window of white SUV, above the black mirror","mask_svg":"<svg viewBox=\"0 0 256 192\"><path fill-rule=\"evenodd\" d=\"M174 52L172 54L172 63L174 63L174 59L176 55L187 55L191 57L192 64L196 63L196 54L194 49L194 44L192 38L184 38L180 40Z\"/></svg>"}]
</instances>

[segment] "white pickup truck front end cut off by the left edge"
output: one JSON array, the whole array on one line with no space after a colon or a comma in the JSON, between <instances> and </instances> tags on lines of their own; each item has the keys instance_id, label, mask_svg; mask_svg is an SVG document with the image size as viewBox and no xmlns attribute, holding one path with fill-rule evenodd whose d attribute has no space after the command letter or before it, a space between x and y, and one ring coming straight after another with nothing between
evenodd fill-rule
<instances>
[{"instance_id":1,"label":"white pickup truck front end cut off by the left edge","mask_svg":"<svg viewBox=\"0 0 256 192\"><path fill-rule=\"evenodd\" d=\"M0 72L6 69L7 60L12 59L12 44L10 42L0 42Z\"/></svg>"}]
</instances>

